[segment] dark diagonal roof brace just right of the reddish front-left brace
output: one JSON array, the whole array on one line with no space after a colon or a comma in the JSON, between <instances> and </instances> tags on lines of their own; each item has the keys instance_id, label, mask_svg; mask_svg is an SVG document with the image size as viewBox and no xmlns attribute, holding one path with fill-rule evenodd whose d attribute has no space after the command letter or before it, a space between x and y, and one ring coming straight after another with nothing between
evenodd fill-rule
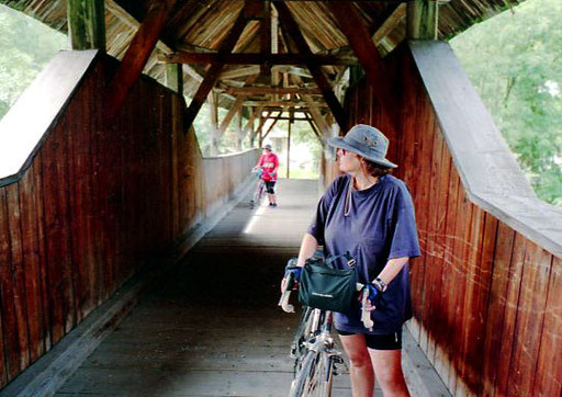
<instances>
[{"instance_id":1,"label":"dark diagonal roof brace just right of the reddish front-left brace","mask_svg":"<svg viewBox=\"0 0 562 397\"><path fill-rule=\"evenodd\" d=\"M226 38L221 44L221 48L218 49L218 55L225 55L231 53L234 49L234 46L238 42L238 38L240 37L241 32L244 31L244 27L246 26L246 19L244 18L244 12L240 12L238 18L236 19L236 22L234 23L234 26L231 29L231 32L226 36ZM221 63L220 57L216 64L211 65L209 68L205 79L203 82L199 86L198 92L195 92L195 95L193 97L189 109L186 113L186 128L189 131L191 128L191 125L193 124L193 121L195 120L199 111L201 110L201 106L205 102L205 99L209 95L209 92L213 89L213 86L215 84L216 80L218 79L218 76L221 76L221 71L224 68L224 64Z\"/></svg>"}]
</instances>

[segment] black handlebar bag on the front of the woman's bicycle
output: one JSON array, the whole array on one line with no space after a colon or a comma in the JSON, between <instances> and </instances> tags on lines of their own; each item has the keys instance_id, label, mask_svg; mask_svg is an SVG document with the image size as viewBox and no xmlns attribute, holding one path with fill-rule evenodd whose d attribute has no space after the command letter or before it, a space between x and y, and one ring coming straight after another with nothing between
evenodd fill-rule
<instances>
[{"instance_id":1,"label":"black handlebar bag on the front of the woman's bicycle","mask_svg":"<svg viewBox=\"0 0 562 397\"><path fill-rule=\"evenodd\" d=\"M299 302L323 310L350 311L357 293L355 269L331 269L324 261L307 261L299 281Z\"/></svg>"}]
</instances>

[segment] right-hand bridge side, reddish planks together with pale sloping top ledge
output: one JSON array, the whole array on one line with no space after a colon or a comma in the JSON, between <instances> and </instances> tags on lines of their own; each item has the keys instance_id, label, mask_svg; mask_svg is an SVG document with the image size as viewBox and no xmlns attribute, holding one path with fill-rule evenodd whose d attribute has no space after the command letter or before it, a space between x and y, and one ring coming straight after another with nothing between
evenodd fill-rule
<instances>
[{"instance_id":1,"label":"right-hand bridge side, reddish planks together with pale sloping top ledge","mask_svg":"<svg viewBox=\"0 0 562 397\"><path fill-rule=\"evenodd\" d=\"M562 211L535 196L447 43L386 63L402 102L389 157L423 248L411 331L454 395L560 395ZM364 80L346 110L391 131Z\"/></svg>"}]
</instances>

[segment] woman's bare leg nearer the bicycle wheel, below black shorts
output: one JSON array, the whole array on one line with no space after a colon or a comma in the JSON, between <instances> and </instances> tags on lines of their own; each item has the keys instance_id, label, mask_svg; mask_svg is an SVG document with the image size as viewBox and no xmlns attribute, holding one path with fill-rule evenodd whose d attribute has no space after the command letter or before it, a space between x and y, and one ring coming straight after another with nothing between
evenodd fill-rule
<instances>
[{"instance_id":1,"label":"woman's bare leg nearer the bicycle wheel, below black shorts","mask_svg":"<svg viewBox=\"0 0 562 397\"><path fill-rule=\"evenodd\" d=\"M351 390L353 397L372 397L374 390L374 373L371 359L361 333L339 336L351 367Z\"/></svg>"}]
</instances>

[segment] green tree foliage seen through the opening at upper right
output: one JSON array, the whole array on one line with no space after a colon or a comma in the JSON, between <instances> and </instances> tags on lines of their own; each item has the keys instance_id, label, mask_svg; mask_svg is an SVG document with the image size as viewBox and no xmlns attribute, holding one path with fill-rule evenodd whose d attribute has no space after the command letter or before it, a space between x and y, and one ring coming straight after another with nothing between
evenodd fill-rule
<instances>
[{"instance_id":1,"label":"green tree foliage seen through the opening at upper right","mask_svg":"<svg viewBox=\"0 0 562 397\"><path fill-rule=\"evenodd\" d=\"M560 15L560 0L527 0L451 46L537 195L562 206Z\"/></svg>"}]
</instances>

